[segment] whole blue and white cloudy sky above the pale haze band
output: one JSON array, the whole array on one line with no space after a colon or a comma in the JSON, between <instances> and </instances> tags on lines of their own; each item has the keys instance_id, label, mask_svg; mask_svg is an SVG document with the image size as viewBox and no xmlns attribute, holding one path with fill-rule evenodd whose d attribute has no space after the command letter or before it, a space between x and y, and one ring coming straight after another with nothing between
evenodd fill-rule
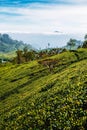
<instances>
[{"instance_id":1,"label":"whole blue and white cloudy sky above the pale haze band","mask_svg":"<svg viewBox=\"0 0 87 130\"><path fill-rule=\"evenodd\" d=\"M86 33L87 0L0 0L0 32Z\"/></svg>"}]
</instances>

